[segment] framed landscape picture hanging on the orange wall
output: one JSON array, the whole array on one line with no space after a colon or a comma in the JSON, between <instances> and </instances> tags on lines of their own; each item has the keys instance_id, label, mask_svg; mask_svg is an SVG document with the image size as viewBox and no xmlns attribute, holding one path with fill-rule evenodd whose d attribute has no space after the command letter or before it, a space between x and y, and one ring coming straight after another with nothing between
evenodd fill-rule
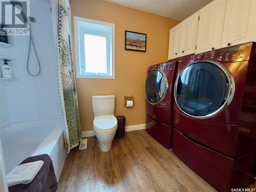
<instances>
[{"instance_id":1,"label":"framed landscape picture hanging on the orange wall","mask_svg":"<svg viewBox=\"0 0 256 192\"><path fill-rule=\"evenodd\" d=\"M146 34L125 31L125 50L146 52Z\"/></svg>"}]
</instances>

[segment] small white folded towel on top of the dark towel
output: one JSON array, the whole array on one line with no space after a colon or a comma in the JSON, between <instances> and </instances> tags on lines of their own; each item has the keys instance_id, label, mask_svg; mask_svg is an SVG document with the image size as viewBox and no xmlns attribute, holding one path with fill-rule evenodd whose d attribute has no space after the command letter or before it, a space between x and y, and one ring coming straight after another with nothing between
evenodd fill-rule
<instances>
[{"instance_id":1,"label":"small white folded towel on top of the dark towel","mask_svg":"<svg viewBox=\"0 0 256 192\"><path fill-rule=\"evenodd\" d=\"M41 169L44 161L34 161L30 163L24 163L16 166L7 175L8 187L17 184L28 184L33 181L39 170Z\"/></svg>"}]
</instances>

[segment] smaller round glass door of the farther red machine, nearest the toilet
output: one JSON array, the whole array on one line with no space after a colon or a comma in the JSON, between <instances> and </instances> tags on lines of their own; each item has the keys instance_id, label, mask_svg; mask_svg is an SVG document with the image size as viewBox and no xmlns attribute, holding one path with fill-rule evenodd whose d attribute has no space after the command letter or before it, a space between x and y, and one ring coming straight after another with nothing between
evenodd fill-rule
<instances>
[{"instance_id":1,"label":"smaller round glass door of the farther red machine, nearest the toilet","mask_svg":"<svg viewBox=\"0 0 256 192\"><path fill-rule=\"evenodd\" d=\"M153 69L147 74L145 82L145 96L151 104L160 103L168 88L167 77L161 70Z\"/></svg>"}]
</instances>

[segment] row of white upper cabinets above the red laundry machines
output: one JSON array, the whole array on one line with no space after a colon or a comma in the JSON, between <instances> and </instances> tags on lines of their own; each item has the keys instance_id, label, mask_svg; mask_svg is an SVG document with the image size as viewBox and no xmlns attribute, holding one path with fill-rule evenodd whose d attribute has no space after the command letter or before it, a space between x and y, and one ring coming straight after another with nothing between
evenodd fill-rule
<instances>
[{"instance_id":1,"label":"row of white upper cabinets above the red laundry machines","mask_svg":"<svg viewBox=\"0 0 256 192\"><path fill-rule=\"evenodd\" d=\"M170 30L168 60L256 41L256 0L214 0Z\"/></svg>"}]
</instances>

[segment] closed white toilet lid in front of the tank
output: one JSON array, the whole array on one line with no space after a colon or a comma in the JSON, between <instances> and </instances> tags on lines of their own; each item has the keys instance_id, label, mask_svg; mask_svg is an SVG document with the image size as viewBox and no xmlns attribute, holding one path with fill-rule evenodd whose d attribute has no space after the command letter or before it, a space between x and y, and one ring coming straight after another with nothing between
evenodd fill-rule
<instances>
[{"instance_id":1,"label":"closed white toilet lid in front of the tank","mask_svg":"<svg viewBox=\"0 0 256 192\"><path fill-rule=\"evenodd\" d=\"M93 120L94 128L100 132L108 132L117 125L117 119L114 115L99 115Z\"/></svg>"}]
</instances>

